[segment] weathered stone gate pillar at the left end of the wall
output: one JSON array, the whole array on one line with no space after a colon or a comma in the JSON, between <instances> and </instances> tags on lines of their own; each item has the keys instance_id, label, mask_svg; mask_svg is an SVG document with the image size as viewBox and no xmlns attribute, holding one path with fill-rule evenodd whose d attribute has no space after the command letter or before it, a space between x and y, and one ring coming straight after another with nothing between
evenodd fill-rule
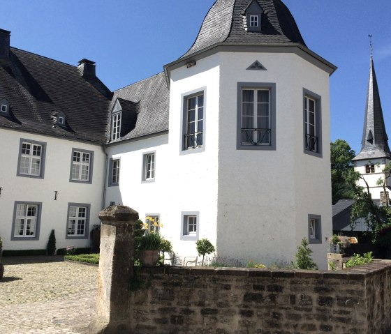
<instances>
[{"instance_id":1,"label":"weathered stone gate pillar at the left end of the wall","mask_svg":"<svg viewBox=\"0 0 391 334\"><path fill-rule=\"evenodd\" d=\"M102 225L97 310L88 333L129 333L131 291L128 287L133 276L138 213L128 206L109 206L98 215Z\"/></svg>"}]
</instances>

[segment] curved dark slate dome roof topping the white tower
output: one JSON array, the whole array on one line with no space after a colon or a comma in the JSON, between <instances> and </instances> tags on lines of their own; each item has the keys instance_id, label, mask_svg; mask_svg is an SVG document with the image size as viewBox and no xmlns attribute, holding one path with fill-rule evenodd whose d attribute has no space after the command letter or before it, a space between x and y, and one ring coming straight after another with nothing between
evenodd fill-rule
<instances>
[{"instance_id":1,"label":"curved dark slate dome roof topping the white tower","mask_svg":"<svg viewBox=\"0 0 391 334\"><path fill-rule=\"evenodd\" d=\"M281 0L255 0L263 8L262 31L246 31L244 10L253 0L217 0L207 13L198 36L186 54L226 45L297 44L306 46L295 19Z\"/></svg>"}]
</instances>

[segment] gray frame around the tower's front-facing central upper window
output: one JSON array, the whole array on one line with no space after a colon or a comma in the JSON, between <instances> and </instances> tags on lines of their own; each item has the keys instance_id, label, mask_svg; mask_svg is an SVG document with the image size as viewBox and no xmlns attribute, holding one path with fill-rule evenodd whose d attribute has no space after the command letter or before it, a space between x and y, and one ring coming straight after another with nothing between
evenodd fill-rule
<instances>
[{"instance_id":1,"label":"gray frame around the tower's front-facing central upper window","mask_svg":"<svg viewBox=\"0 0 391 334\"><path fill-rule=\"evenodd\" d=\"M270 90L270 145L242 145L242 89ZM276 84L273 82L237 83L236 149L276 151Z\"/></svg>"}]
</instances>

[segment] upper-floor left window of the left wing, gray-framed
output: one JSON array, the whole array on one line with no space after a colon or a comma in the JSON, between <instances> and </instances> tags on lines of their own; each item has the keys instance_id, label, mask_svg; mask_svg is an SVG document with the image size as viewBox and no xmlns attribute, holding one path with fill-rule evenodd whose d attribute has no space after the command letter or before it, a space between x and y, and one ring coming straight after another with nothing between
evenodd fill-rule
<instances>
[{"instance_id":1,"label":"upper-floor left window of the left wing, gray-framed","mask_svg":"<svg viewBox=\"0 0 391 334\"><path fill-rule=\"evenodd\" d=\"M17 176L43 179L46 143L20 139Z\"/></svg>"}]
</instances>

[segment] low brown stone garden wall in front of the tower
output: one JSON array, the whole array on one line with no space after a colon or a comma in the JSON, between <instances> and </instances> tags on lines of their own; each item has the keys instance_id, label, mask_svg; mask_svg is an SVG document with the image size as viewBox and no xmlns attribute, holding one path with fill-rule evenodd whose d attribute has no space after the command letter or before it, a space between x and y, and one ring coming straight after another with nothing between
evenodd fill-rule
<instances>
[{"instance_id":1,"label":"low brown stone garden wall in front of the tower","mask_svg":"<svg viewBox=\"0 0 391 334\"><path fill-rule=\"evenodd\" d=\"M131 294L138 334L381 334L391 328L391 262L350 271L144 268Z\"/></svg>"}]
</instances>

